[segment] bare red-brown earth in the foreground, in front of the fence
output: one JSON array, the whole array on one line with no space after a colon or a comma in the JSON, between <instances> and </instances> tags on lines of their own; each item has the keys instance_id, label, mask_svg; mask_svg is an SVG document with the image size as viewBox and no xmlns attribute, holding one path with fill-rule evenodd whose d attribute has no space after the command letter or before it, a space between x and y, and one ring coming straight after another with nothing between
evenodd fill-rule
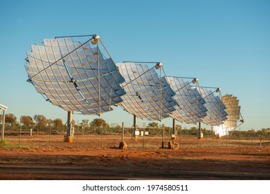
<instances>
[{"instance_id":1,"label":"bare red-brown earth in the foreground, in front of the fence","mask_svg":"<svg viewBox=\"0 0 270 194\"><path fill-rule=\"evenodd\" d=\"M0 179L270 179L270 147L0 147Z\"/></svg>"}]
</instances>

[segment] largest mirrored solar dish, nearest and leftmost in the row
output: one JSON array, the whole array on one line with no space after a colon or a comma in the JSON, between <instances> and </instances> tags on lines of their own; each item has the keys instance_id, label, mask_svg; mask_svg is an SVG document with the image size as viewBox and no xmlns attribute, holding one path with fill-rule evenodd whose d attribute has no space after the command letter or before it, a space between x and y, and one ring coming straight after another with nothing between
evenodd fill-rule
<instances>
[{"instance_id":1,"label":"largest mirrored solar dish, nearest and leftmost in the row","mask_svg":"<svg viewBox=\"0 0 270 194\"><path fill-rule=\"evenodd\" d=\"M28 82L53 105L100 115L123 101L120 96L125 91L120 83L124 78L114 61L100 52L98 35L90 36L84 42L76 42L74 37L56 37L44 39L42 45L33 44L32 51L26 52L25 67Z\"/></svg>"}]
</instances>

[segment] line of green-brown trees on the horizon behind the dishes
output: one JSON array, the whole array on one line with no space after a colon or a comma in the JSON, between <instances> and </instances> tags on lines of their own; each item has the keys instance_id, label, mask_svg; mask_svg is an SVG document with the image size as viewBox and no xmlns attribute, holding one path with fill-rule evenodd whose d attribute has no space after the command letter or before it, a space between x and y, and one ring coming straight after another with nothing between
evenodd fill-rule
<instances>
[{"instance_id":1,"label":"line of green-brown trees on the horizon behind the dishes","mask_svg":"<svg viewBox=\"0 0 270 194\"><path fill-rule=\"evenodd\" d=\"M2 125L3 116L0 115L0 123ZM17 117L14 114L6 114L5 116L5 129L6 130L39 130L39 132L48 132L49 130L65 132L66 131L66 123L63 123L61 118L50 119L46 118L42 114L35 114L33 118L31 116L21 116L19 121L17 121ZM0 126L1 126L0 125ZM75 127L79 127L80 132L93 132L100 133L102 131L106 132L119 132L121 130L120 125L109 126L109 124L102 118L95 118L93 121L89 121L89 119L83 119L81 123L75 123L73 121L73 125ZM163 125L159 125L159 123L151 122L145 127L145 130L150 134L156 134L158 130L161 130ZM172 127L164 126L165 132L170 134L172 132ZM197 135L197 127L182 128L181 125L176 125L177 134L186 134L186 135ZM206 128L202 129L204 136L212 136L213 130L206 130ZM229 132L229 136L270 136L270 127L262 128L261 130L233 130Z\"/></svg>"}]
</instances>

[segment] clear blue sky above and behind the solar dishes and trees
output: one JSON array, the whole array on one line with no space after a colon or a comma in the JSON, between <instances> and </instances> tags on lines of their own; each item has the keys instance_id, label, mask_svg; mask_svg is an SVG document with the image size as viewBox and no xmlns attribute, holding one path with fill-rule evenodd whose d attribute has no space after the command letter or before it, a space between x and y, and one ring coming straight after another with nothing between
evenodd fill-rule
<instances>
[{"instance_id":1,"label":"clear blue sky above and behind the solar dishes and trees","mask_svg":"<svg viewBox=\"0 0 270 194\"><path fill-rule=\"evenodd\" d=\"M43 38L98 34L116 62L160 61L167 75L197 77L237 96L241 130L270 127L269 10L268 0L1 1L0 103L18 119L44 114L65 122L66 112L26 82L26 51ZM133 119L120 108L102 118L126 125Z\"/></svg>"}]
</instances>

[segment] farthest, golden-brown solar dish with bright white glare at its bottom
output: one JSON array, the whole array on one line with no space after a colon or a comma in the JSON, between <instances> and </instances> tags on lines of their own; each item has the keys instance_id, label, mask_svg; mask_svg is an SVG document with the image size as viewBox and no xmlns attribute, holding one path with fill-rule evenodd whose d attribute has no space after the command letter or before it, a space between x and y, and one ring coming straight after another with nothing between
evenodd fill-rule
<instances>
[{"instance_id":1,"label":"farthest, golden-brown solar dish with bright white glare at its bottom","mask_svg":"<svg viewBox=\"0 0 270 194\"><path fill-rule=\"evenodd\" d=\"M222 96L222 103L226 106L226 112L228 113L227 120L224 124L215 126L215 134L219 134L219 136L228 135L228 132L234 130L237 125L237 122L244 123L244 119L240 113L241 107L239 106L239 100L237 97L233 96L232 94L226 94Z\"/></svg>"}]
</instances>

